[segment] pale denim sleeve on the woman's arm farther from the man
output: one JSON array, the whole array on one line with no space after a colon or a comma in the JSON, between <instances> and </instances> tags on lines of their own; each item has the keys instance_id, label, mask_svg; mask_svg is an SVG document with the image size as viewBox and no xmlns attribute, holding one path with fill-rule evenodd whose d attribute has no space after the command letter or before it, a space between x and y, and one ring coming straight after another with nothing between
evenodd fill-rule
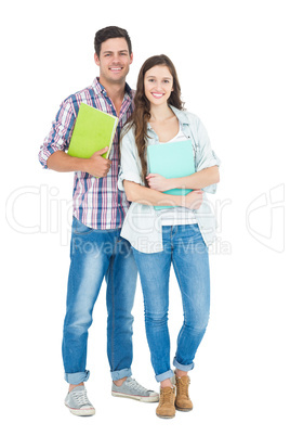
<instances>
[{"instance_id":1,"label":"pale denim sleeve on the woman's arm farther from the man","mask_svg":"<svg viewBox=\"0 0 290 436\"><path fill-rule=\"evenodd\" d=\"M197 131L197 150L196 150L196 170L201 171L205 168L210 168L213 166L221 165L220 158L216 156L214 151L211 149L211 142L207 132L206 127L197 118L196 124ZM214 194L216 192L216 183L203 188L203 191Z\"/></svg>"}]
</instances>

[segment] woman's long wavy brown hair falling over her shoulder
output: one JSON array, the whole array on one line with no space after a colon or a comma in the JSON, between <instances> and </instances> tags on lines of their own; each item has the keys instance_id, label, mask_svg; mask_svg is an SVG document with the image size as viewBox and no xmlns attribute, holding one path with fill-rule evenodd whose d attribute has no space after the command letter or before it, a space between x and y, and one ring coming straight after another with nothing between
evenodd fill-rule
<instances>
[{"instance_id":1,"label":"woman's long wavy brown hair falling over her shoulder","mask_svg":"<svg viewBox=\"0 0 290 436\"><path fill-rule=\"evenodd\" d=\"M141 67L139 78L137 78L137 87L136 87L136 93L134 98L134 112L129 118L126 128L124 128L124 133L132 127L134 129L134 136L135 136L135 143L142 165L142 179L145 183L146 187L148 187L146 176L147 176L147 153L146 153L146 146L147 146L147 140L148 140L148 134L147 134L147 123L150 119L150 102L145 95L145 90L144 90L144 77L145 74L148 69L153 68L156 65L166 65L170 74L173 77L173 91L171 92L171 95L168 100L168 104L182 110L183 108L183 102L181 101L181 87L177 78L177 74L175 70L175 67L171 60L166 56L164 54L151 56L147 59L147 61L144 62L144 64Z\"/></svg>"}]
</instances>

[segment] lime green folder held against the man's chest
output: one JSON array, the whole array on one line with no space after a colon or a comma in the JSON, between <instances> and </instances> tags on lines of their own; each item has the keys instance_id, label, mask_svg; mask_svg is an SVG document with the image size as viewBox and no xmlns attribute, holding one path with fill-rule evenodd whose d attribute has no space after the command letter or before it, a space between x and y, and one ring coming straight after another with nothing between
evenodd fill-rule
<instances>
[{"instance_id":1,"label":"lime green folder held against the man's chest","mask_svg":"<svg viewBox=\"0 0 290 436\"><path fill-rule=\"evenodd\" d=\"M107 158L118 120L116 116L81 103L67 153L70 156L89 158L108 146L108 151L102 155Z\"/></svg>"}]
</instances>

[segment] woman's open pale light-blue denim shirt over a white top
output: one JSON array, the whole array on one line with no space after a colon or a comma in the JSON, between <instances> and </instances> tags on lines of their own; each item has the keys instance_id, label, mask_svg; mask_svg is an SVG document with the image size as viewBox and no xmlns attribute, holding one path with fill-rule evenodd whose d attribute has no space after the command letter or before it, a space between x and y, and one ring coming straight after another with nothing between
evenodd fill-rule
<instances>
[{"instance_id":1,"label":"woman's open pale light-blue denim shirt over a white top","mask_svg":"<svg viewBox=\"0 0 290 436\"><path fill-rule=\"evenodd\" d=\"M180 111L171 106L175 113L184 134L192 140L196 171L220 166L220 159L211 150L207 130L200 119L186 111ZM147 145L158 144L159 140L155 131L148 125ZM119 190L123 191L123 180L133 181L144 185L141 175L141 162L137 154L134 131L131 128L121 139L121 164L118 180ZM197 223L207 245L215 239L215 215L211 202L206 192L214 194L216 184L202 189L203 201L199 209L195 210ZM127 213L121 236L128 240L131 245L143 253L158 253L163 251L162 246L162 223L154 206L132 202Z\"/></svg>"}]
</instances>

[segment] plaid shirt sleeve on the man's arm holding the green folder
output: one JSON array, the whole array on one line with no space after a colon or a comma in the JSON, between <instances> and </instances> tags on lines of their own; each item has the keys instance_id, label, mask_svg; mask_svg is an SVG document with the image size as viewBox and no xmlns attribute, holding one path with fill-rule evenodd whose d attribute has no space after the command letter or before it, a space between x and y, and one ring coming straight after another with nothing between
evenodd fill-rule
<instances>
[{"instance_id":1,"label":"plaid shirt sleeve on the man's arm holding the green folder","mask_svg":"<svg viewBox=\"0 0 290 436\"><path fill-rule=\"evenodd\" d=\"M67 151L76 121L71 99L61 104L49 134L40 146L38 158L43 168L48 168L48 158L57 151Z\"/></svg>"}]
</instances>

